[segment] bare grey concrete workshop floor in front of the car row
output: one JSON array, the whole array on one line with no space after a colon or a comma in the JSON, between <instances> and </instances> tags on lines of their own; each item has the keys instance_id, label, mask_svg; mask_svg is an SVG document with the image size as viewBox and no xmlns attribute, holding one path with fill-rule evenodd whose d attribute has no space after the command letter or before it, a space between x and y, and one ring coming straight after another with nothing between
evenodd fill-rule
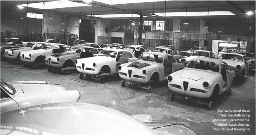
<instances>
[{"instance_id":1,"label":"bare grey concrete workshop floor in front of the car row","mask_svg":"<svg viewBox=\"0 0 256 135\"><path fill-rule=\"evenodd\" d=\"M45 80L60 84L67 90L79 90L79 102L93 103L117 109L128 115L150 114L153 120L184 123L201 135L255 135L255 73L246 75L244 81L237 81L232 86L231 96L221 96L212 110L203 105L187 103L181 100L170 101L167 82L152 93L136 90L131 87L121 87L121 79L112 76L105 77L105 83L79 79L79 73L74 71L68 75L48 72L47 68L34 70L22 65L1 62L0 77L5 81ZM217 109L249 109L250 126L217 126L214 119L223 119ZM235 114L224 113L223 114ZM238 114L238 113L236 113ZM241 114L241 113L240 113ZM246 114L246 113L244 113ZM227 117L228 118L228 117ZM236 117L246 118L246 117ZM249 131L213 131L214 128L250 128Z\"/></svg>"}]
</instances>

